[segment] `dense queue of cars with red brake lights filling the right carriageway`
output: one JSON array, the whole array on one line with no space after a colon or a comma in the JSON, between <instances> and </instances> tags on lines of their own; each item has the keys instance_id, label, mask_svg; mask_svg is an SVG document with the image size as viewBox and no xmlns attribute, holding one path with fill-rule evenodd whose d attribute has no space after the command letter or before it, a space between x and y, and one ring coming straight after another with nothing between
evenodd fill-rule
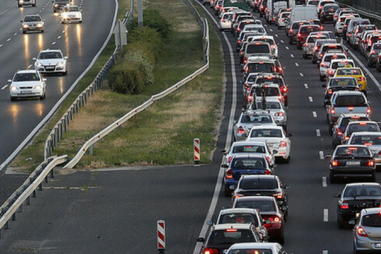
<instances>
[{"instance_id":1,"label":"dense queue of cars with red brake lights filling the right carriageway","mask_svg":"<svg viewBox=\"0 0 381 254\"><path fill-rule=\"evenodd\" d=\"M284 29L289 47L319 70L322 105L332 137L329 182L350 179L337 199L337 225L352 229L354 253L381 250L381 130L372 119L367 74L350 57L346 41L381 72L381 32L370 20L334 0L200 0L210 5L219 29L236 39L243 105L234 121L234 142L223 150L224 193L231 206L210 225L202 254L287 253L284 228L289 215L288 189L277 176L291 160L288 132L289 87L279 59L277 36ZM256 14L257 13L257 14ZM258 16L260 18L258 18ZM334 31L325 30L333 23ZM272 30L271 29L271 30ZM362 59L364 61L364 59ZM336 218L335 218L336 219Z\"/></svg>"}]
</instances>

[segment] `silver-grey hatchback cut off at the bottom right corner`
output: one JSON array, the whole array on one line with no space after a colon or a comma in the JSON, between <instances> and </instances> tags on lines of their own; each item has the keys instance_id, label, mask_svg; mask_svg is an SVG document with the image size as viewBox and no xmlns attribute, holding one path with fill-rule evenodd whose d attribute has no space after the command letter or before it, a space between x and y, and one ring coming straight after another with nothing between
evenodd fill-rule
<instances>
[{"instance_id":1,"label":"silver-grey hatchback cut off at the bottom right corner","mask_svg":"<svg viewBox=\"0 0 381 254\"><path fill-rule=\"evenodd\" d=\"M381 249L381 208L362 209L353 230L353 250L379 251Z\"/></svg>"}]
</instances>

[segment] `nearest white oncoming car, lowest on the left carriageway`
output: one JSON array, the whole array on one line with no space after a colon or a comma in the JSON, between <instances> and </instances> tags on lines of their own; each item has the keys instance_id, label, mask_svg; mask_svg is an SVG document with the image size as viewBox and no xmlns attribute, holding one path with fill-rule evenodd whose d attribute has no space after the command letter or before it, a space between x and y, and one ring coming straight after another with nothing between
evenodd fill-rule
<instances>
[{"instance_id":1,"label":"nearest white oncoming car, lowest on the left carriageway","mask_svg":"<svg viewBox=\"0 0 381 254\"><path fill-rule=\"evenodd\" d=\"M9 94L11 101L17 98L39 97L44 100L46 97L46 79L37 70L20 70L8 80Z\"/></svg>"}]
</instances>

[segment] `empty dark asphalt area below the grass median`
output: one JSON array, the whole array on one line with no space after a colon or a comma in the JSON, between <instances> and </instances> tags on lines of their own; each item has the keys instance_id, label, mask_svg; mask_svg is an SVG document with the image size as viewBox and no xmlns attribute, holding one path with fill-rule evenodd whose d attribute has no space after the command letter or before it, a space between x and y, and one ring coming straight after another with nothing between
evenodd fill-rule
<instances>
[{"instance_id":1,"label":"empty dark asphalt area below the grass median","mask_svg":"<svg viewBox=\"0 0 381 254\"><path fill-rule=\"evenodd\" d=\"M55 177L2 231L0 252L125 253L156 249L156 220L166 221L166 253L190 253L218 170L147 167ZM180 233L181 232L181 233Z\"/></svg>"}]
</instances>

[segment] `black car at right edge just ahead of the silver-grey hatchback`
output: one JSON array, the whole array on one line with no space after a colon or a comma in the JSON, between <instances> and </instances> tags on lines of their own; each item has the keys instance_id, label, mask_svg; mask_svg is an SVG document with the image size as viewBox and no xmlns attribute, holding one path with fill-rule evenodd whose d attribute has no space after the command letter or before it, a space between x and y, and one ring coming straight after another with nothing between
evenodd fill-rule
<instances>
[{"instance_id":1,"label":"black car at right edge just ahead of the silver-grey hatchback","mask_svg":"<svg viewBox=\"0 0 381 254\"><path fill-rule=\"evenodd\" d=\"M366 208L379 207L381 204L381 185L379 183L349 183L343 188L337 205L337 223L344 228L348 222Z\"/></svg>"}]
</instances>

